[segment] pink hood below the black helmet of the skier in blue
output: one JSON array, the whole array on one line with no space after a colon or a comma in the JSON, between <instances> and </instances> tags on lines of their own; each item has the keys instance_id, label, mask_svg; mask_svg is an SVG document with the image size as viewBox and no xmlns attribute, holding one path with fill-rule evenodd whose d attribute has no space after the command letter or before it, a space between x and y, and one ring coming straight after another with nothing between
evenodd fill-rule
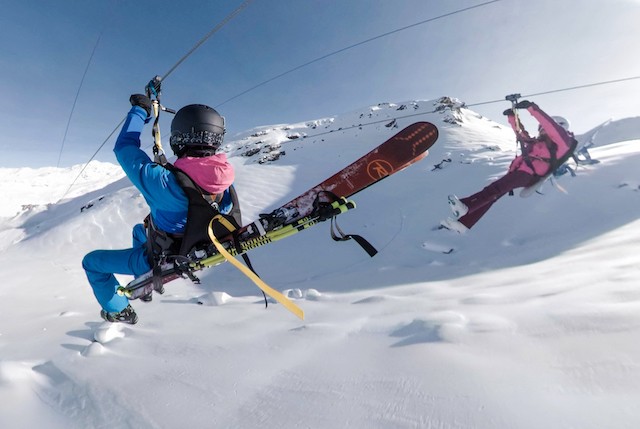
<instances>
[{"instance_id":1,"label":"pink hood below the black helmet of the skier in blue","mask_svg":"<svg viewBox=\"0 0 640 429\"><path fill-rule=\"evenodd\" d=\"M233 166L224 153L204 158L185 156L178 158L173 164L187 173L198 186L212 194L224 192L235 178Z\"/></svg>"}]
</instances>

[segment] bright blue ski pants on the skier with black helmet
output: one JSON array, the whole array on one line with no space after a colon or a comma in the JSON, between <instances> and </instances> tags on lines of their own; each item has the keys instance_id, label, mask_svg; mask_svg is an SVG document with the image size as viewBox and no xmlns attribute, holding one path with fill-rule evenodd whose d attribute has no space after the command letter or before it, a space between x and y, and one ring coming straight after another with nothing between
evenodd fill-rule
<instances>
[{"instance_id":1,"label":"bright blue ski pants on the skier with black helmet","mask_svg":"<svg viewBox=\"0 0 640 429\"><path fill-rule=\"evenodd\" d=\"M129 300L116 293L118 280L114 274L138 277L151 269L145 252L147 235L144 225L133 227L133 247L122 250L94 250L82 260L89 284L98 303L109 313L117 313L129 305Z\"/></svg>"}]
</instances>

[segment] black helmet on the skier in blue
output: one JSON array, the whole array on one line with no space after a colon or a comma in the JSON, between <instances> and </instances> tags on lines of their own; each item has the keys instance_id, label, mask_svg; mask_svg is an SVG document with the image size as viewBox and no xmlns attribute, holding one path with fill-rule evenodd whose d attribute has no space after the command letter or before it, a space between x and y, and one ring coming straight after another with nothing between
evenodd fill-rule
<instances>
[{"instance_id":1,"label":"black helmet on the skier in blue","mask_svg":"<svg viewBox=\"0 0 640 429\"><path fill-rule=\"evenodd\" d=\"M203 157L216 153L224 138L224 118L204 104L178 110L171 121L169 143L176 156Z\"/></svg>"}]
</instances>

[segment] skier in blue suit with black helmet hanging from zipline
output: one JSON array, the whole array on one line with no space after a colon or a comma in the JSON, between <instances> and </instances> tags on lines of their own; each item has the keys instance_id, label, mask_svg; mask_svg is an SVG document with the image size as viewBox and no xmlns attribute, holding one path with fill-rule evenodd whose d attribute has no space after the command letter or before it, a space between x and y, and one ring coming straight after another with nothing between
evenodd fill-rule
<instances>
[{"instance_id":1,"label":"skier in blue suit with black helmet hanging from zipline","mask_svg":"<svg viewBox=\"0 0 640 429\"><path fill-rule=\"evenodd\" d=\"M158 231L180 237L187 222L189 201L173 172L153 162L140 149L140 134L151 118L151 100L142 94L129 99L132 107L113 149L116 159L150 208L150 222ZM185 172L203 191L220 196L221 212L229 212L229 189L233 167L224 153L217 153L224 138L224 118L211 107L192 104L180 109L171 123L171 149L178 157L175 166ZM116 293L114 276L138 277L149 270L153 255L147 246L147 228L133 228L133 245L122 250L95 250L82 260L87 279L102 307L100 316L109 322L135 324L138 316L124 296ZM145 299L146 298L146 299ZM143 297L150 300L151 295Z\"/></svg>"}]
</instances>

